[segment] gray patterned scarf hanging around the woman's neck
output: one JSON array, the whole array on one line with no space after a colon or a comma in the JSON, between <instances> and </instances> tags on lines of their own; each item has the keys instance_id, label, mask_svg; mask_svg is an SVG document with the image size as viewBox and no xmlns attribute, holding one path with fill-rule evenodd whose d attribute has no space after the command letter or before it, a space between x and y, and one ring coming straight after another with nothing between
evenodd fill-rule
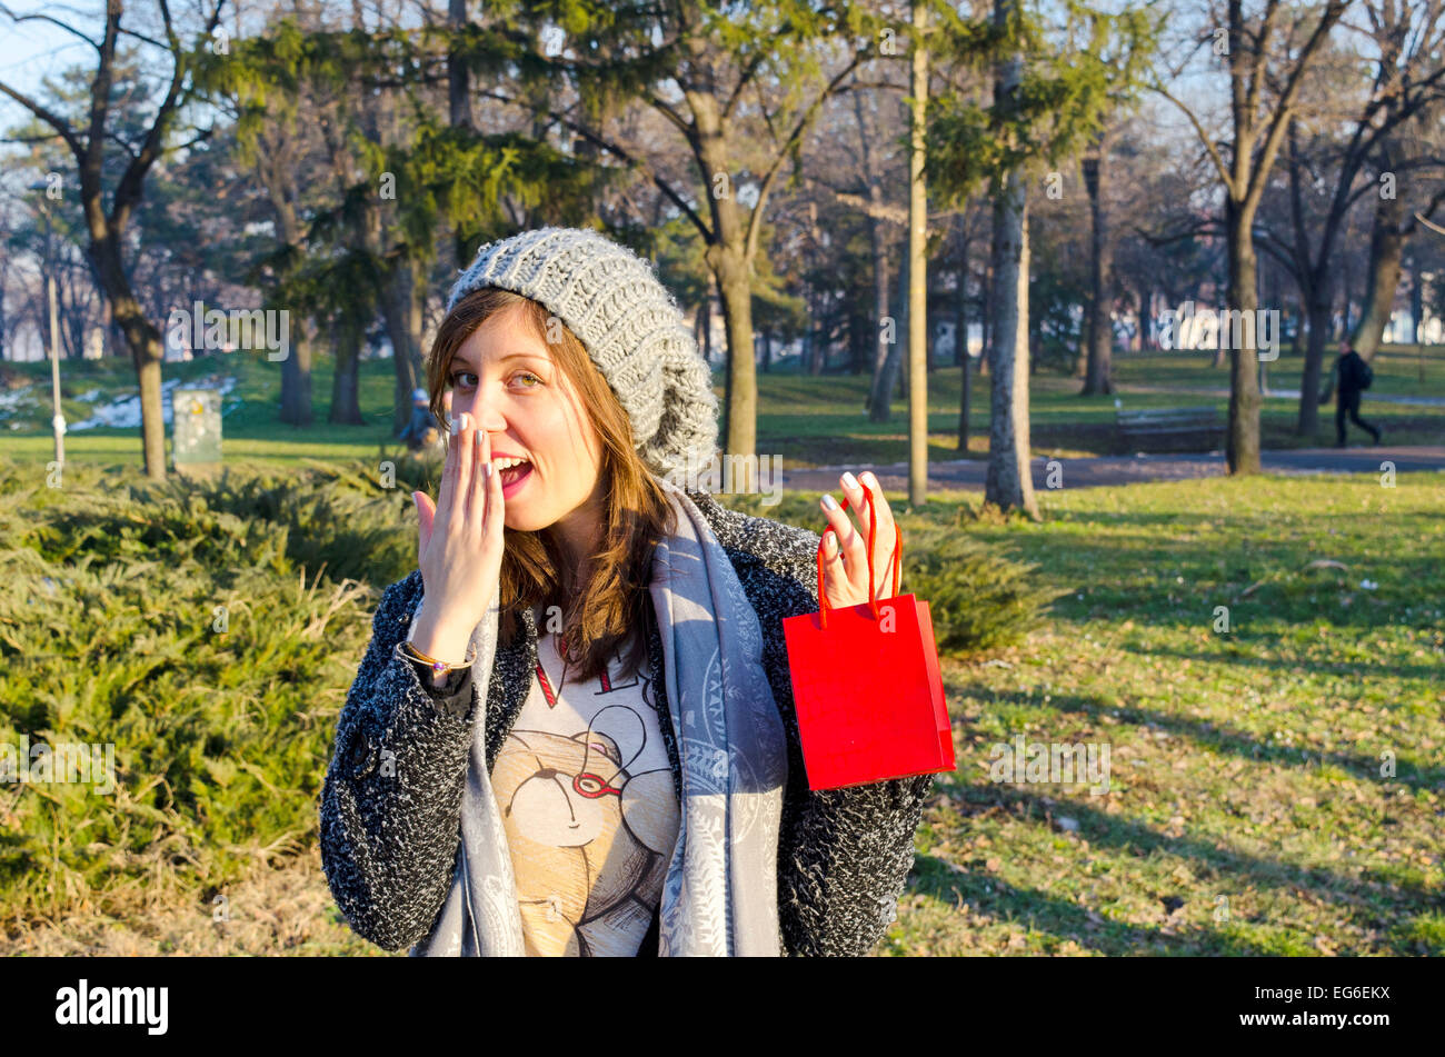
<instances>
[{"instance_id":1,"label":"gray patterned scarf hanging around the woman's neck","mask_svg":"<svg viewBox=\"0 0 1445 1057\"><path fill-rule=\"evenodd\" d=\"M696 504L655 478L678 528L652 562L668 709L682 765L678 842L662 888L659 956L777 956L777 833L788 748L763 670L763 635L733 563ZM473 632L473 684L490 684L499 602ZM478 706L478 710L480 706ZM418 956L522 956L507 835L475 721L451 891Z\"/></svg>"}]
</instances>

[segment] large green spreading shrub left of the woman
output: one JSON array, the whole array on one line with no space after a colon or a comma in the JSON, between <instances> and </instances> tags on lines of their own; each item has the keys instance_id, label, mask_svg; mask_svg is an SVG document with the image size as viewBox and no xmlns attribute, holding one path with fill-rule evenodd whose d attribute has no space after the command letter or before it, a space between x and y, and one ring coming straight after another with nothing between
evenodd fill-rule
<instances>
[{"instance_id":1,"label":"large green spreading shrub left of the woman","mask_svg":"<svg viewBox=\"0 0 1445 1057\"><path fill-rule=\"evenodd\" d=\"M379 589L415 567L409 508L314 471L0 471L0 742L116 765L111 793L0 786L0 917L194 895L314 843Z\"/></svg>"}]
</instances>

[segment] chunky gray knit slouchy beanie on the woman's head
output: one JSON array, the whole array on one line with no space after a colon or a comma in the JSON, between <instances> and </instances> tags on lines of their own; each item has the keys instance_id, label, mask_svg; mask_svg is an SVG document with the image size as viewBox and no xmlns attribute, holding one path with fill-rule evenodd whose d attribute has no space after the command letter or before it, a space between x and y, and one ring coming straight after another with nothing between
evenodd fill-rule
<instances>
[{"instance_id":1,"label":"chunky gray knit slouchy beanie on the woman's head","mask_svg":"<svg viewBox=\"0 0 1445 1057\"><path fill-rule=\"evenodd\" d=\"M681 484L689 461L712 461L712 375L650 261L595 231L538 228L483 245L447 310L486 286L530 297L566 323L627 412L649 469Z\"/></svg>"}]
</instances>

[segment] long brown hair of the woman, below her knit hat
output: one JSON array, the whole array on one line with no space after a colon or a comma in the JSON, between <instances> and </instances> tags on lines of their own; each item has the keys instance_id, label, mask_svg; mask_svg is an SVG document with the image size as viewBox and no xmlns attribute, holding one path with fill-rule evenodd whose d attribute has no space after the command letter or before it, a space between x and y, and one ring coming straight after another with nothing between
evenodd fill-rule
<instances>
[{"instance_id":1,"label":"long brown hair of the woman, below her knit hat","mask_svg":"<svg viewBox=\"0 0 1445 1057\"><path fill-rule=\"evenodd\" d=\"M657 541L676 527L676 514L666 492L639 458L631 420L587 348L561 319L553 321L552 313L530 297L494 286L473 290L442 319L428 355L426 387L432 413L444 420L442 396L451 384L448 375L457 351L483 322L513 306L522 308L523 325L546 342L552 361L571 383L597 430L603 448L598 477L604 482L607 514L601 550L590 556L592 565L584 585L565 583L558 573L566 566L565 552L551 528L503 530L506 549L501 556L499 632L503 641L510 643L520 631L517 614L522 609L538 604L555 605L562 614L568 664L578 679L597 679L605 673L608 660L626 641L631 647L621 658L623 677L631 679L647 657L642 632L652 605L647 592L652 553ZM549 322L556 341L548 341Z\"/></svg>"}]
</instances>

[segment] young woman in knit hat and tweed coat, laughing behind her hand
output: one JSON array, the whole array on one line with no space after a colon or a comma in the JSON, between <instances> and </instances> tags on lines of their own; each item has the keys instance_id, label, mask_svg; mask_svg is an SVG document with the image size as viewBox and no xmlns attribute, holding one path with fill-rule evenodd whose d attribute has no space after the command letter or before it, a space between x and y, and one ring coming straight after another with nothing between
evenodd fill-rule
<instances>
[{"instance_id":1,"label":"young woman in knit hat and tweed coat, laughing behind her hand","mask_svg":"<svg viewBox=\"0 0 1445 1057\"><path fill-rule=\"evenodd\" d=\"M448 387L419 567L381 596L322 793L351 927L413 954L871 950L932 777L809 791L782 621L818 609L819 537L688 479L717 397L652 267L572 228L484 245L434 409ZM868 601L866 547L887 588L861 478L877 539L822 500L835 606Z\"/></svg>"}]
</instances>

